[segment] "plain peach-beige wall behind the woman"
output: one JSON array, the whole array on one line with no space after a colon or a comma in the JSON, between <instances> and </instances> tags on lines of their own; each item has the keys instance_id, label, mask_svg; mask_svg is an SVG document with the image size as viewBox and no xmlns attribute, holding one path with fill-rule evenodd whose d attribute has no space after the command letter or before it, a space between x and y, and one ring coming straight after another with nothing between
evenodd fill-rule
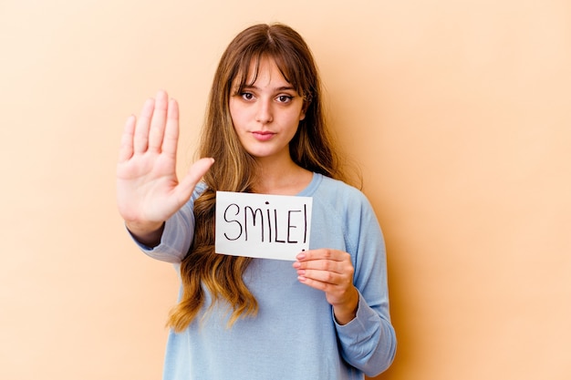
<instances>
[{"instance_id":1,"label":"plain peach-beige wall behind the woman","mask_svg":"<svg viewBox=\"0 0 571 380\"><path fill-rule=\"evenodd\" d=\"M184 170L223 48L272 21L313 48L386 234L378 378L568 379L568 0L0 0L0 378L160 378L177 278L122 229L120 130L169 90Z\"/></svg>"}]
</instances>

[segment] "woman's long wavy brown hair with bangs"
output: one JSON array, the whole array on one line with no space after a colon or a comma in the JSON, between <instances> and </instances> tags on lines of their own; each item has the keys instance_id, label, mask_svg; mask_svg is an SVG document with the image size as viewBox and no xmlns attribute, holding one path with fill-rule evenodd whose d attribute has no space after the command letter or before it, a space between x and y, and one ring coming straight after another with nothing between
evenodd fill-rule
<instances>
[{"instance_id":1,"label":"woman's long wavy brown hair with bangs","mask_svg":"<svg viewBox=\"0 0 571 380\"><path fill-rule=\"evenodd\" d=\"M255 80L257 66L254 73L249 67L252 62L259 64L263 56L275 60L285 80L305 100L306 118L300 121L289 144L291 158L302 168L345 180L326 128L317 67L303 38L282 24L250 26L235 36L215 72L202 128L198 154L213 157L215 164L204 176L206 190L194 202L194 236L181 265L181 301L172 309L168 322L177 332L188 327L201 310L204 287L212 294L213 303L225 301L230 305L230 325L258 311L254 295L243 280L252 259L214 252L214 216L217 190L251 192L254 185L255 160L237 138L228 104L234 93L252 84L247 83L249 77L253 75Z\"/></svg>"}]
</instances>

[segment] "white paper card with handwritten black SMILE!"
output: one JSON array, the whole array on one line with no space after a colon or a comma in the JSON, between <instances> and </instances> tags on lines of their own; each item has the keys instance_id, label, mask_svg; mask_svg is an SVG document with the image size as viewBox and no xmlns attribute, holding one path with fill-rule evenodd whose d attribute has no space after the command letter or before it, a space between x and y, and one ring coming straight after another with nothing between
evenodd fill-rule
<instances>
[{"instance_id":1,"label":"white paper card with handwritten black SMILE!","mask_svg":"<svg viewBox=\"0 0 571 380\"><path fill-rule=\"evenodd\" d=\"M296 260L309 249L313 199L216 191L217 253Z\"/></svg>"}]
</instances>

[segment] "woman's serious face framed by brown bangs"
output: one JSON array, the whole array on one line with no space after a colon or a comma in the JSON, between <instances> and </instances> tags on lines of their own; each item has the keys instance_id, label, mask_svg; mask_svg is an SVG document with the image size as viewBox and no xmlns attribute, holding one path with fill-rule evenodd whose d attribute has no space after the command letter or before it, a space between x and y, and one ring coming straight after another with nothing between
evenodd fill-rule
<instances>
[{"instance_id":1,"label":"woman's serious face framed by brown bangs","mask_svg":"<svg viewBox=\"0 0 571 380\"><path fill-rule=\"evenodd\" d=\"M246 83L252 83L254 73L253 62ZM240 93L233 91L229 106L238 139L248 153L258 160L290 159L289 142L306 117L304 99L274 59L261 58L255 82Z\"/></svg>"}]
</instances>

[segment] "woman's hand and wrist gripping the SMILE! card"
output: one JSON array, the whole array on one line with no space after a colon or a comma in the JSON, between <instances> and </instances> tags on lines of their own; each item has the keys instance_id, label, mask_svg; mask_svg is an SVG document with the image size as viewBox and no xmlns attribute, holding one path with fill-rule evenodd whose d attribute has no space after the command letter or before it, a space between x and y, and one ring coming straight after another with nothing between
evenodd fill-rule
<instances>
[{"instance_id":1,"label":"woman's hand and wrist gripping the SMILE! card","mask_svg":"<svg viewBox=\"0 0 571 380\"><path fill-rule=\"evenodd\" d=\"M358 290L353 285L353 263L348 252L327 248L301 252L294 268L297 279L325 292L338 324L348 324L358 308Z\"/></svg>"}]
</instances>

